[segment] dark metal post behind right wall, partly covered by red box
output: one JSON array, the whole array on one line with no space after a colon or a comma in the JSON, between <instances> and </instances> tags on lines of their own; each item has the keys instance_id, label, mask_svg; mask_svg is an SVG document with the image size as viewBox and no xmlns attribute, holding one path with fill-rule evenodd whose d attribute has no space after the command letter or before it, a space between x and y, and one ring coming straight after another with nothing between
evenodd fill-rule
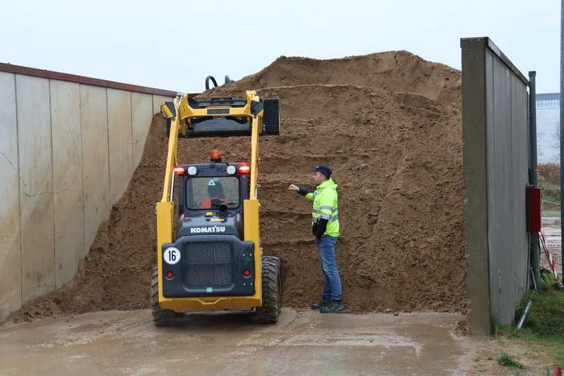
<instances>
[{"instance_id":1,"label":"dark metal post behind right wall, partly covered by red box","mask_svg":"<svg viewBox=\"0 0 564 376\"><path fill-rule=\"evenodd\" d=\"M563 0L564 1L564 0ZM538 163L537 163L537 73L533 70L528 73L528 116L529 116L529 140L531 140L531 169L528 170L528 181L531 186L538 187ZM534 280L540 280L540 244L538 232L531 232L531 268Z\"/></svg>"}]
</instances>

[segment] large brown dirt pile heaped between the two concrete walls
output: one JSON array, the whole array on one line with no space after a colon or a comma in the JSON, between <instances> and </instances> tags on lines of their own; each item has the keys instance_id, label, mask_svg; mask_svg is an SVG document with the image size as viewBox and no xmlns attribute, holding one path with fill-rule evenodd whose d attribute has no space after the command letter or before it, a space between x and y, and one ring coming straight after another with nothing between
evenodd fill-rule
<instances>
[{"instance_id":1,"label":"large brown dirt pile heaped between the two concrete walls","mask_svg":"<svg viewBox=\"0 0 564 376\"><path fill-rule=\"evenodd\" d=\"M202 96L245 89L282 103L282 135L261 139L259 199L262 246L284 260L284 306L321 294L311 205L287 186L311 186L312 166L326 163L340 187L346 306L466 311L459 72L409 52L281 57ZM79 274L16 317L148 306L166 145L155 116L142 163ZM178 159L201 162L213 148L226 160L250 153L244 138L181 140Z\"/></svg>"}]
</instances>

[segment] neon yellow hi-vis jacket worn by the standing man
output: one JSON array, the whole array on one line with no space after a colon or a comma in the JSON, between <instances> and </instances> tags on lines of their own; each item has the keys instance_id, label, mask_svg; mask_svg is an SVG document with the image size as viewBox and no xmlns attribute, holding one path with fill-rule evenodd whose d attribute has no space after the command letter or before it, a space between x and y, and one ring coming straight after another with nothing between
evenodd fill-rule
<instances>
[{"instance_id":1,"label":"neon yellow hi-vis jacket worn by the standing man","mask_svg":"<svg viewBox=\"0 0 564 376\"><path fill-rule=\"evenodd\" d=\"M323 181L317 186L314 193L305 195L307 200L313 201L312 224L317 222L318 218L328 220L327 230L323 235L339 236L339 213L338 213L338 197L337 184L333 179Z\"/></svg>"}]
</instances>

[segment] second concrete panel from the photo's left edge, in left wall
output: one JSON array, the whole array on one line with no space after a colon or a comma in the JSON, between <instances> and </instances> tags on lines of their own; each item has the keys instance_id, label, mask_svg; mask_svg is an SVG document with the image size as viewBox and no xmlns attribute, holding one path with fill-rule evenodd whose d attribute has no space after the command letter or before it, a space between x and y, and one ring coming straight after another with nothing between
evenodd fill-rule
<instances>
[{"instance_id":1,"label":"second concrete panel from the photo's left edge, in left wall","mask_svg":"<svg viewBox=\"0 0 564 376\"><path fill-rule=\"evenodd\" d=\"M49 80L16 75L22 233L22 303L52 292L53 169Z\"/></svg>"}]
</instances>

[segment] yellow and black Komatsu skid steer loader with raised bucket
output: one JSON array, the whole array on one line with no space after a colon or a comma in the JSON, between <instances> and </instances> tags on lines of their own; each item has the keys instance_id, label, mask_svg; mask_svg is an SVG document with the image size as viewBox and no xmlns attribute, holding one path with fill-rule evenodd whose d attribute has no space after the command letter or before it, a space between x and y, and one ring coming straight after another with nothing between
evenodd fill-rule
<instances>
[{"instance_id":1,"label":"yellow and black Komatsu skid steer loader with raised bucket","mask_svg":"<svg viewBox=\"0 0 564 376\"><path fill-rule=\"evenodd\" d=\"M278 98L261 99L256 91L244 99L184 94L161 112L169 145L151 280L155 325L174 325L186 311L211 310L249 310L259 322L277 322L281 262L261 248L257 172L259 136L279 135ZM179 137L226 136L250 137L249 163L224 161L217 150L209 163L178 163Z\"/></svg>"}]
</instances>

